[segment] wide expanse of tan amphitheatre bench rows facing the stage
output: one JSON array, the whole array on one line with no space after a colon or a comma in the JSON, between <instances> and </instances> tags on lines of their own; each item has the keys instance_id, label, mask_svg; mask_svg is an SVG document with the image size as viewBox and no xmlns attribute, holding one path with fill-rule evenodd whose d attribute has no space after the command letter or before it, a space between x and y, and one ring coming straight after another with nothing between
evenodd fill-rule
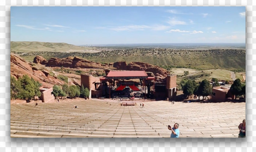
<instances>
[{"instance_id":1,"label":"wide expanse of tan amphitheatre bench rows facing the stage","mask_svg":"<svg viewBox=\"0 0 256 152\"><path fill-rule=\"evenodd\" d=\"M120 106L120 102L81 100L38 107L11 104L10 114L11 137L170 137L167 126L176 122L180 137L237 137L245 102L141 101Z\"/></svg>"}]
</instances>

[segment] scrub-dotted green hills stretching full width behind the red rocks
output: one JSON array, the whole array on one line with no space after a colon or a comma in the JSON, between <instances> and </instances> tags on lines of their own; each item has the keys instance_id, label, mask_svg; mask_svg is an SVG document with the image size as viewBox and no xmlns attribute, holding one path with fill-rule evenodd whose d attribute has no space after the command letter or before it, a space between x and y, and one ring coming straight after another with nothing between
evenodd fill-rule
<instances>
[{"instance_id":1,"label":"scrub-dotted green hills stretching full width behind the red rocks","mask_svg":"<svg viewBox=\"0 0 256 152\"><path fill-rule=\"evenodd\" d=\"M96 53L84 51L65 51L67 49L86 48L66 43L46 42L11 42L11 52L20 54L28 61L33 61L36 55L46 59L52 57L65 58L78 56L90 61L111 63L139 61L170 68L222 68L233 71L245 71L245 49L208 49L208 50L175 50L166 48L100 48ZM26 51L22 51L26 48ZM58 51L51 51L56 49ZM93 49L88 47L88 49ZM109 50L109 51L107 51Z\"/></svg>"}]
</instances>

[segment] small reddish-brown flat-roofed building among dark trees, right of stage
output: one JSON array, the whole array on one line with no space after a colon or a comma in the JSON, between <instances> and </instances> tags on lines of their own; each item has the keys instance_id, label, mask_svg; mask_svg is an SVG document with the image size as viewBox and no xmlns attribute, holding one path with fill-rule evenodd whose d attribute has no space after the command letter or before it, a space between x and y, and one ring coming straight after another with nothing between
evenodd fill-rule
<instances>
[{"instance_id":1,"label":"small reddish-brown flat-roofed building among dark trees, right of stage","mask_svg":"<svg viewBox=\"0 0 256 152\"><path fill-rule=\"evenodd\" d=\"M217 86L212 88L212 101L213 102L224 102L228 98L235 99L235 95L231 94L229 88Z\"/></svg>"}]
</instances>

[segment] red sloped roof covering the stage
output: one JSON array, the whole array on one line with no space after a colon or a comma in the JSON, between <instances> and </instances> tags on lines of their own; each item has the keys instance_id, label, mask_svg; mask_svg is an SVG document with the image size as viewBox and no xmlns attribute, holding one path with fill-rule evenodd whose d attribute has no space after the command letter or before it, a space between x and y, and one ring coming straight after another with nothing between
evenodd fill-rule
<instances>
[{"instance_id":1,"label":"red sloped roof covering the stage","mask_svg":"<svg viewBox=\"0 0 256 152\"><path fill-rule=\"evenodd\" d=\"M109 79L143 79L148 78L145 71L109 71L106 78Z\"/></svg>"}]
</instances>

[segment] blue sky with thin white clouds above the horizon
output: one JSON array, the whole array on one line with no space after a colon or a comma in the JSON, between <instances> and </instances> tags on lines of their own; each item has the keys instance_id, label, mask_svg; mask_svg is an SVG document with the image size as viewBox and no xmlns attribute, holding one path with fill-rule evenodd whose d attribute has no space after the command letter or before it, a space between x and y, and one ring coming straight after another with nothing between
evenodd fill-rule
<instances>
[{"instance_id":1,"label":"blue sky with thin white clouds above the horizon","mask_svg":"<svg viewBox=\"0 0 256 152\"><path fill-rule=\"evenodd\" d=\"M11 41L245 43L245 7L11 7Z\"/></svg>"}]
</instances>

